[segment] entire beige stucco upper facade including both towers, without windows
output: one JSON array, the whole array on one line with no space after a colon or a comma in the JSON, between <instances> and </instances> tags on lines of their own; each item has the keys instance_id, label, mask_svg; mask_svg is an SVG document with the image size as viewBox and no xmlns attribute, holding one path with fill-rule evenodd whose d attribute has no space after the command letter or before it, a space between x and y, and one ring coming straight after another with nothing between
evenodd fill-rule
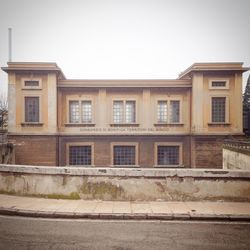
<instances>
[{"instance_id":1,"label":"entire beige stucco upper facade including both towers, without windows","mask_svg":"<svg viewBox=\"0 0 250 250\"><path fill-rule=\"evenodd\" d=\"M41 79L42 89L22 88L22 80ZM227 80L228 89L211 89L213 79ZM66 81L66 80L65 80ZM67 81L66 81L67 82ZM184 87L122 87L122 82L112 81L109 87L57 88L57 75L48 73L9 73L9 132L13 133L57 133L63 134L240 134L242 133L242 76L241 73L194 72L192 85ZM129 81L126 83L128 84ZM60 83L61 84L61 83ZM60 85L59 84L59 85ZM69 81L69 86L70 86ZM74 82L72 83L74 84ZM83 83L86 84L86 83ZM95 84L103 83L92 83ZM106 84L106 83L105 83ZM133 84L137 84L136 82ZM141 83L140 83L141 84ZM157 81L155 84L159 84ZM162 84L162 83L161 83ZM169 83L166 83L169 84ZM173 85L175 80L173 80ZM177 83L176 84L180 84ZM117 85L117 87L112 87ZM176 85L176 86L177 86ZM60 85L61 86L61 85ZM118 87L119 86L119 87ZM150 87L151 86L151 87ZM164 86L161 85L161 86ZM167 85L166 85L167 86ZM179 85L178 85L179 86ZM191 87L192 86L192 87ZM24 96L36 95L41 99L42 126L23 126ZM211 125L211 97L225 96L227 104L226 124ZM92 127L65 126L69 122L69 100L89 99L93 103ZM137 126L112 127L112 101L133 99L136 101ZM177 99L181 101L182 125L155 126L157 100ZM58 108L57 108L58 107ZM58 117L58 121L57 121ZM59 128L59 131L58 131Z\"/></svg>"}]
</instances>

